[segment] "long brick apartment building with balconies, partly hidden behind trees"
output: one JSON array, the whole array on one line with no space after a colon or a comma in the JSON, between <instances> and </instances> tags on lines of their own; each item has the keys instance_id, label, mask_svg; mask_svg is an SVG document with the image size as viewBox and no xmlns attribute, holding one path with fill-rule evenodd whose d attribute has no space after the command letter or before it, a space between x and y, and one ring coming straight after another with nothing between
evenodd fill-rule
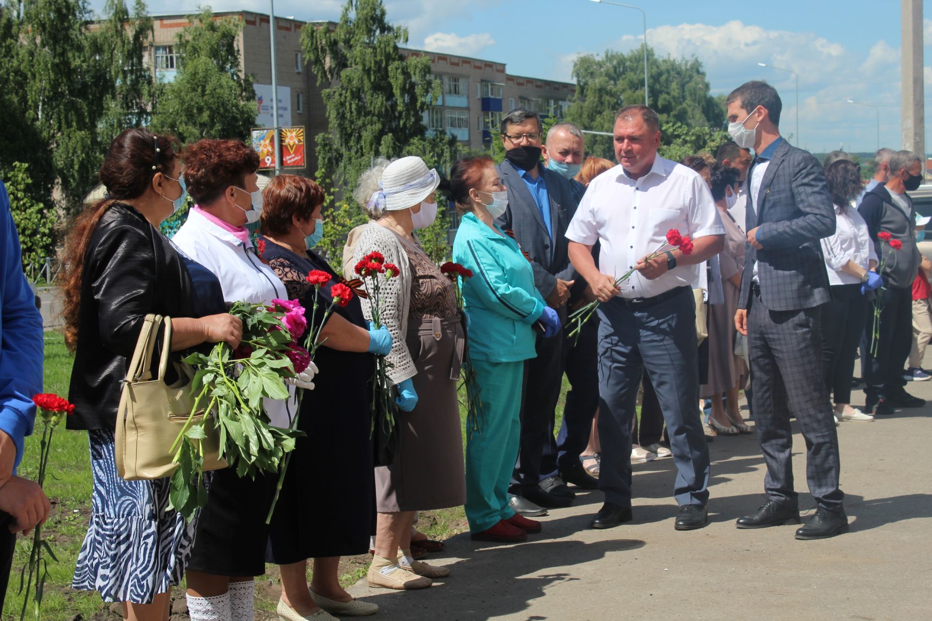
<instances>
[{"instance_id":1,"label":"long brick apartment building with balconies, partly hidden behind trees","mask_svg":"<svg viewBox=\"0 0 932 621\"><path fill-rule=\"evenodd\" d=\"M256 128L271 126L271 49L269 19L253 11L221 11L218 18L232 17L243 23L238 46L240 72L251 74L256 91ZM188 16L154 14L154 36L148 61L156 79L171 82L178 67L177 35L188 26ZM290 169L312 176L317 170L314 137L327 130L326 111L317 76L304 63L301 29L307 22L275 18L276 71L279 95L279 125L303 126L307 140L306 167ZM336 27L332 21L314 21L322 27ZM430 131L456 136L464 150L479 150L491 141L491 128L498 128L501 115L517 106L541 115L562 116L575 85L539 78L509 75L505 63L484 61L452 54L403 49L406 55L431 59L433 74L440 78L443 94L424 114Z\"/></svg>"}]
</instances>

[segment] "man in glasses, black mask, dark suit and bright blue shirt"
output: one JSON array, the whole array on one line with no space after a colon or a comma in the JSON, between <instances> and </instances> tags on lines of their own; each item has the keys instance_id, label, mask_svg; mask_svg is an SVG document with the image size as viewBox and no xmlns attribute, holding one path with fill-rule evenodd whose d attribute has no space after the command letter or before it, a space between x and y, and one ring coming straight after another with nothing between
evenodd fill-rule
<instances>
[{"instance_id":1,"label":"man in glasses, black mask, dark suit and bright blue shirt","mask_svg":"<svg viewBox=\"0 0 932 621\"><path fill-rule=\"evenodd\" d=\"M576 210L569 181L541 165L541 118L517 108L501 120L505 161L498 166L508 189L508 209L497 223L512 231L534 269L534 284L547 304L566 324L566 302L575 271L569 263L564 234ZM537 358L525 365L521 399L521 446L510 492L512 506L522 515L543 515L546 508L569 506L575 494L543 465L544 452L553 452L556 401L563 379L563 331L537 337ZM555 457L555 454L553 455ZM548 461L553 461L548 460Z\"/></svg>"}]
</instances>

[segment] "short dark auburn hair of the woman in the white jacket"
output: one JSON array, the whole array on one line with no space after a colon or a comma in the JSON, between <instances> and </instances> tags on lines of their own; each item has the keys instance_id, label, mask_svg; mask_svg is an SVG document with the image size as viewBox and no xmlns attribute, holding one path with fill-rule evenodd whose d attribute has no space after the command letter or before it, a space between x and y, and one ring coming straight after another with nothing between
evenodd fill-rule
<instances>
[{"instance_id":1,"label":"short dark auburn hair of the woman in the white jacket","mask_svg":"<svg viewBox=\"0 0 932 621\"><path fill-rule=\"evenodd\" d=\"M203 138L185 149L185 182L194 202L209 205L230 185L242 190L259 169L259 154L242 141Z\"/></svg>"}]
</instances>

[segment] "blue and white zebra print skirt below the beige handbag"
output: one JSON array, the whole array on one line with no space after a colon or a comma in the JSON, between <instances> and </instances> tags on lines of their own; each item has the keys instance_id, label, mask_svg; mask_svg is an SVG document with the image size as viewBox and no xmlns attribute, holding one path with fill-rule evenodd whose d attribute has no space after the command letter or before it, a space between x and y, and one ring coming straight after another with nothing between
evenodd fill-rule
<instances>
[{"instance_id":1,"label":"blue and white zebra print skirt below the beige handbag","mask_svg":"<svg viewBox=\"0 0 932 621\"><path fill-rule=\"evenodd\" d=\"M103 601L151 603L181 582L197 518L185 524L167 508L168 478L120 478L113 430L88 433L94 488L72 587L98 591Z\"/></svg>"}]
</instances>

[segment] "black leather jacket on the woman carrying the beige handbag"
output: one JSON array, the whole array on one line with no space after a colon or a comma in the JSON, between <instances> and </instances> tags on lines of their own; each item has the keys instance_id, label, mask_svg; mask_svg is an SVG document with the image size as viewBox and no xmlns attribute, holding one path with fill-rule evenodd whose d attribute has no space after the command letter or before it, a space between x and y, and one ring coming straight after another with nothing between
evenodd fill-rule
<instances>
[{"instance_id":1,"label":"black leather jacket on the woman carrying the beige handbag","mask_svg":"<svg viewBox=\"0 0 932 621\"><path fill-rule=\"evenodd\" d=\"M193 317L191 296L171 242L129 205L107 209L84 257L69 429L114 428L120 382L145 316Z\"/></svg>"}]
</instances>

